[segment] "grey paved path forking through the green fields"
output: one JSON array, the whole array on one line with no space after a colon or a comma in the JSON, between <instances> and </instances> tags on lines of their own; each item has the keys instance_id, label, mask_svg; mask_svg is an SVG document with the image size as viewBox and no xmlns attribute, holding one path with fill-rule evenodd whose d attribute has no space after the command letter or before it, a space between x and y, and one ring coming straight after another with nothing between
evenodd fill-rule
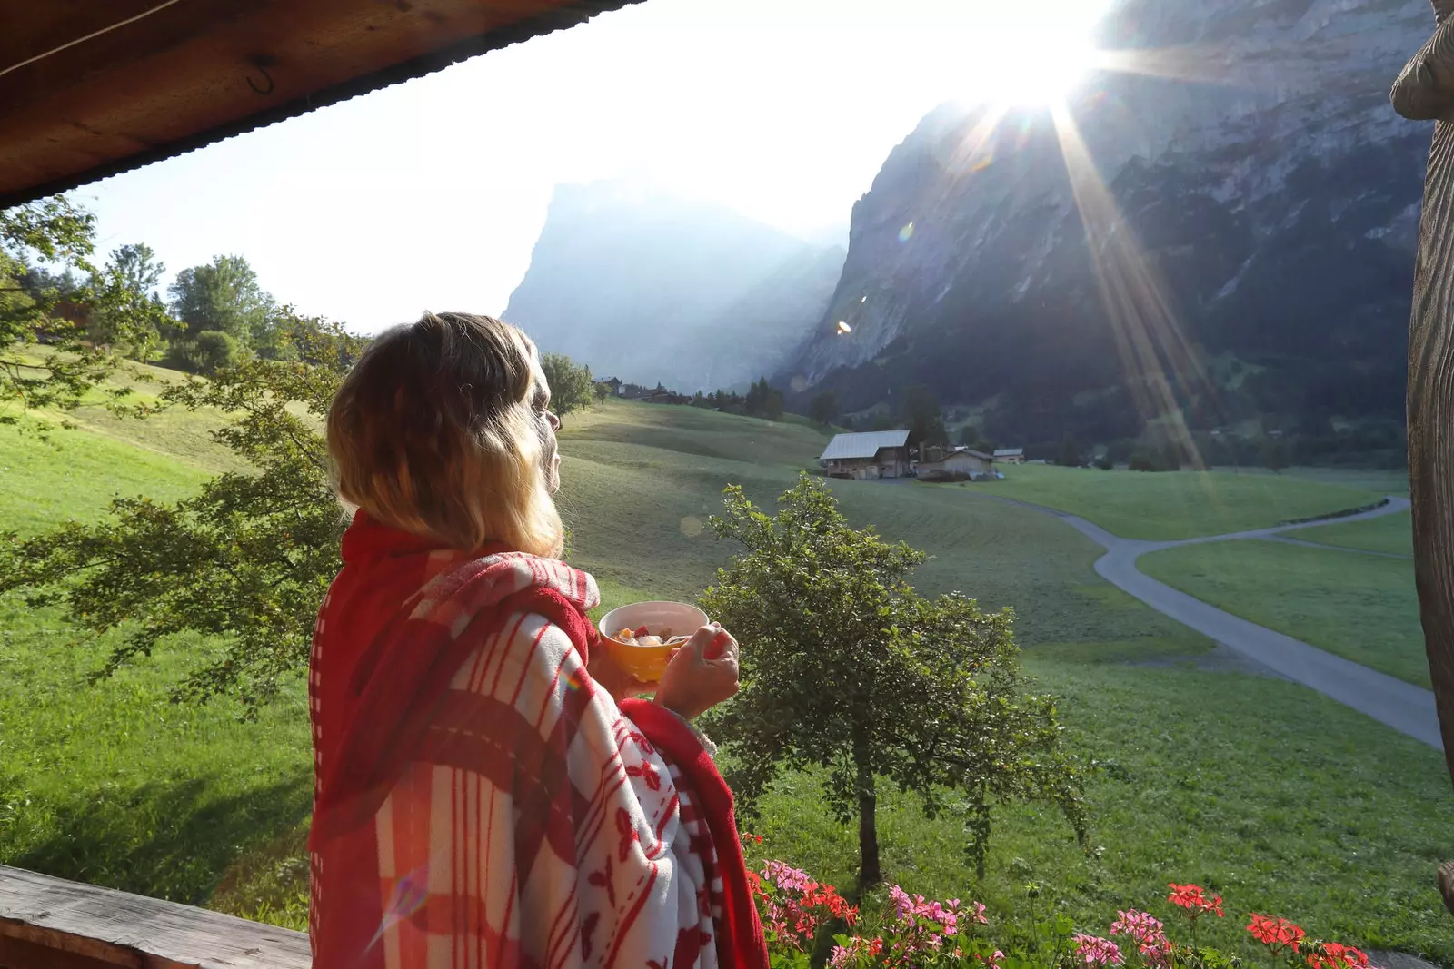
<instances>
[{"instance_id":1,"label":"grey paved path forking through the green fields","mask_svg":"<svg viewBox=\"0 0 1454 969\"><path fill-rule=\"evenodd\" d=\"M1112 585L1136 596L1143 603L1162 612L1176 622L1191 626L1197 632L1216 639L1262 665L1309 686L1319 693L1329 696L1345 706L1367 713L1373 719L1387 723L1393 729L1421 739L1431 747L1442 750L1439 738L1439 721L1434 709L1434 693L1423 687L1405 683L1386 673L1370 670L1365 665L1343 660L1326 649L1284 636L1266 626L1233 616L1229 612L1208 606L1207 603L1175 590L1165 583L1159 583L1150 575L1136 568L1136 559L1147 552L1176 548L1179 545L1202 545L1207 542L1232 542L1240 539L1281 539L1282 532L1309 527L1309 523L1281 524L1271 529L1253 529L1250 532L1234 532L1230 535L1211 535L1205 538L1182 539L1179 542L1144 542L1137 539L1122 539L1111 535L1099 524L1086 522L1082 517L1047 508L1038 504L1015 501L1013 498L996 498L1009 501L1027 508L1034 508L1044 514L1051 514L1066 524L1082 532L1086 538L1105 549L1105 555L1096 559L1095 571ZM1362 519L1377 519L1384 514L1396 514L1409 507L1407 498L1389 495L1389 503L1333 523L1358 522ZM1304 543L1304 542L1298 542ZM1313 545L1306 542L1306 545ZM1336 548L1323 546L1317 548ZM1357 549L1338 549L1357 552Z\"/></svg>"}]
</instances>

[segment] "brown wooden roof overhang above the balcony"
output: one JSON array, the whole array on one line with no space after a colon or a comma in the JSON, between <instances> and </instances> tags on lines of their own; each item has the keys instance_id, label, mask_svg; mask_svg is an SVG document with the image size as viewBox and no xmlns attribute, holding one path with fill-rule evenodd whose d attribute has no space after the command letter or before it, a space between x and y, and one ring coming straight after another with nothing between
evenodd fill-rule
<instances>
[{"instance_id":1,"label":"brown wooden roof overhang above the balcony","mask_svg":"<svg viewBox=\"0 0 1454 969\"><path fill-rule=\"evenodd\" d=\"M0 0L0 209L637 0Z\"/></svg>"}]
</instances>

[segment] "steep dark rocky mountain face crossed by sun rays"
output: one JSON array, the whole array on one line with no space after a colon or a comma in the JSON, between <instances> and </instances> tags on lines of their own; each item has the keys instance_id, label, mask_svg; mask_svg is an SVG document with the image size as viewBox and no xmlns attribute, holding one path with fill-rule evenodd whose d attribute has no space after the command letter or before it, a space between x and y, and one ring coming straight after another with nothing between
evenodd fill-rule
<instances>
[{"instance_id":1,"label":"steep dark rocky mountain face crossed by sun rays","mask_svg":"<svg viewBox=\"0 0 1454 969\"><path fill-rule=\"evenodd\" d=\"M1387 92L1431 28L1403 0L1122 0L1104 48L1181 80L1098 76L1073 126L926 116L781 381L848 410L928 384L1006 443L1400 426L1431 132Z\"/></svg>"}]
</instances>

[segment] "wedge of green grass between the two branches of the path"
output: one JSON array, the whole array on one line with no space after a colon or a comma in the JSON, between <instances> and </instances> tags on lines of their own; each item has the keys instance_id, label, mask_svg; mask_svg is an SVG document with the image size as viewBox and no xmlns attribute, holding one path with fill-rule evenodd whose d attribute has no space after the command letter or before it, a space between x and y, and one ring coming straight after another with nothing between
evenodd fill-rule
<instances>
[{"instance_id":1,"label":"wedge of green grass between the two branches of the path","mask_svg":"<svg viewBox=\"0 0 1454 969\"><path fill-rule=\"evenodd\" d=\"M1243 619L1429 686L1410 561L1253 540L1184 545L1137 567Z\"/></svg>"}]
</instances>

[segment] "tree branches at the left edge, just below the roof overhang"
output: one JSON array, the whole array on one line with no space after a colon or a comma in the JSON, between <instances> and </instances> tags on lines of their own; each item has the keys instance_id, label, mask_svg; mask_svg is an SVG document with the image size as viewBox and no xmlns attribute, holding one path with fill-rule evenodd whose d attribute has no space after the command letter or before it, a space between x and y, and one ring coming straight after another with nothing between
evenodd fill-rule
<instances>
[{"instance_id":1,"label":"tree branches at the left edge, just below the roof overhang","mask_svg":"<svg viewBox=\"0 0 1454 969\"><path fill-rule=\"evenodd\" d=\"M0 421L17 420L10 405L74 405L116 365L108 344L134 343L151 325L154 307L116 254L92 264L95 234L95 215L64 196L0 211ZM105 343L92 338L97 318Z\"/></svg>"}]
</instances>

